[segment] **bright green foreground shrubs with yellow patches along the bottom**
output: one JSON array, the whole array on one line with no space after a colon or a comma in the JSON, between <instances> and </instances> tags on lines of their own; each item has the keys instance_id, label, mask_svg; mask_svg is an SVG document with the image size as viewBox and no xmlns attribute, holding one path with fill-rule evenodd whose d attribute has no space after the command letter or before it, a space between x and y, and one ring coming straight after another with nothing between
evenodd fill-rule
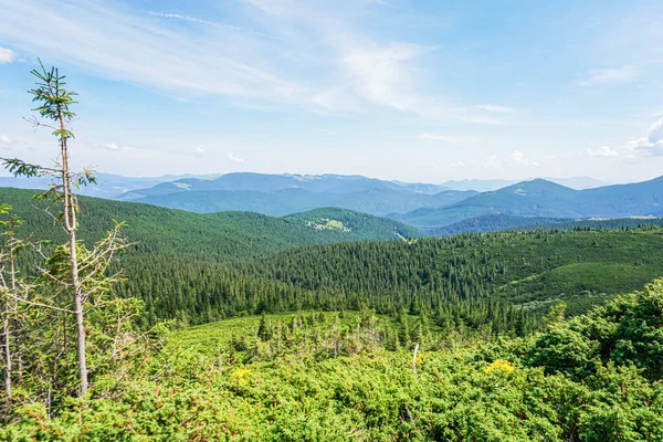
<instances>
[{"instance_id":1,"label":"bright green foreground shrubs with yellow patches along the bottom","mask_svg":"<svg viewBox=\"0 0 663 442\"><path fill-rule=\"evenodd\" d=\"M409 348L334 357L284 345L244 361L230 344L214 355L178 347L176 334L134 379L95 379L88 400L18 407L0 439L661 440L663 282L562 317L556 308L526 339L429 346L415 371ZM260 323L250 334L260 336Z\"/></svg>"}]
</instances>

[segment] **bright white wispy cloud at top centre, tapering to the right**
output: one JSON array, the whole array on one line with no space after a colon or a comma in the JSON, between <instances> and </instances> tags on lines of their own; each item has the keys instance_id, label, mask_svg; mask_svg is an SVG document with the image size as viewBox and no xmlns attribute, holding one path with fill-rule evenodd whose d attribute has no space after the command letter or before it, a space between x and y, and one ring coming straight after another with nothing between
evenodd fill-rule
<instances>
[{"instance_id":1,"label":"bright white wispy cloud at top centre, tapering to the right","mask_svg":"<svg viewBox=\"0 0 663 442\"><path fill-rule=\"evenodd\" d=\"M296 0L243 0L269 17L274 28L297 35L315 48L315 57L324 59L332 85L318 91L311 103L325 110L356 112L379 106L413 114L420 118L469 124L503 124L486 117L485 109L453 103L431 94L423 62L438 51L403 40L376 39L361 27L352 27L367 17L367 1L325 2ZM499 110L506 113L506 106ZM497 107L494 112L497 112Z\"/></svg>"}]
</instances>

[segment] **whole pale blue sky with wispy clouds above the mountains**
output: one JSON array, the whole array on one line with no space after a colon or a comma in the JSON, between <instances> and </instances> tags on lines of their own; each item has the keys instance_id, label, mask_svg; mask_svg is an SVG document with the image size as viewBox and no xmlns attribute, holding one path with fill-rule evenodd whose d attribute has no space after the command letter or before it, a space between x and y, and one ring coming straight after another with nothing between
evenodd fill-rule
<instances>
[{"instance_id":1,"label":"whole pale blue sky with wispy clouds above the mountains","mask_svg":"<svg viewBox=\"0 0 663 442\"><path fill-rule=\"evenodd\" d=\"M24 120L41 57L76 167L642 181L662 41L660 0L0 0L0 156L57 155Z\"/></svg>"}]
</instances>

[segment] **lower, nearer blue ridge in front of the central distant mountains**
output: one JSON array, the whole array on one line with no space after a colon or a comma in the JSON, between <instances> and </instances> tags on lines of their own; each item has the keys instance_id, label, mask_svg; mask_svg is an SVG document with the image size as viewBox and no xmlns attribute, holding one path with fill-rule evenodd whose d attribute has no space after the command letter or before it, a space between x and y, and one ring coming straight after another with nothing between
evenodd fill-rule
<instances>
[{"instance_id":1,"label":"lower, nearer blue ridge in front of the central distant mountains","mask_svg":"<svg viewBox=\"0 0 663 442\"><path fill-rule=\"evenodd\" d=\"M274 217L303 212L324 207L336 207L373 215L404 213L421 207L440 208L473 197L476 192L446 190L435 194L415 193L396 189L369 189L356 192L313 192L304 189L284 189L273 192L255 190L182 190L162 191L159 185L137 201L191 212L251 211ZM170 189L166 189L170 190Z\"/></svg>"}]
</instances>

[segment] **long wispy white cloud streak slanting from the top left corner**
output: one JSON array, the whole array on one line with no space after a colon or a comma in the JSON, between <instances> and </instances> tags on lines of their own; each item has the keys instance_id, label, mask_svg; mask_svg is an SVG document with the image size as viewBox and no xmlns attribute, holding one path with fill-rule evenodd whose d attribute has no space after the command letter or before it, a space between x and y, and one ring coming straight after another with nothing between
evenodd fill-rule
<instances>
[{"instance_id":1,"label":"long wispy white cloud streak slanting from the top left corner","mask_svg":"<svg viewBox=\"0 0 663 442\"><path fill-rule=\"evenodd\" d=\"M20 42L28 55L48 53L105 77L168 92L262 101L285 101L301 92L296 82L262 61L264 45L230 28L183 32L149 14L82 0L66 8L8 0L0 4L0 39ZM67 44L53 40L57 33L67 35Z\"/></svg>"}]
</instances>

